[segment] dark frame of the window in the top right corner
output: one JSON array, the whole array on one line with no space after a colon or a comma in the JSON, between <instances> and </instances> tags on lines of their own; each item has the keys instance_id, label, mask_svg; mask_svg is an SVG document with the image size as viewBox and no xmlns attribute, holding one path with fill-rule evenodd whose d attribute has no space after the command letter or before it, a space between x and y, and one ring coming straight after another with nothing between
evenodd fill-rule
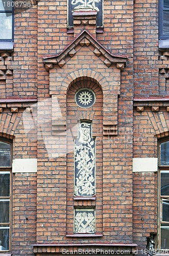
<instances>
[{"instance_id":1,"label":"dark frame of the window in the top right corner","mask_svg":"<svg viewBox=\"0 0 169 256\"><path fill-rule=\"evenodd\" d=\"M169 8L163 8L163 0L160 0L158 3L158 38L159 40L166 40L169 39L169 32L168 35L163 35L163 11L168 10Z\"/></svg>"}]
</instances>

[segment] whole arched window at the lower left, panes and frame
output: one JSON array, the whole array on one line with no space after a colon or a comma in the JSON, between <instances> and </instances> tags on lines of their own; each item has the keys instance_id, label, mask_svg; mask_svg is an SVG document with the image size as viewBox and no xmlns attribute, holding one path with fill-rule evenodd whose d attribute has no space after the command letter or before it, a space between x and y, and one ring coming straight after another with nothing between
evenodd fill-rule
<instances>
[{"instance_id":1,"label":"whole arched window at the lower left, panes and frame","mask_svg":"<svg viewBox=\"0 0 169 256\"><path fill-rule=\"evenodd\" d=\"M0 141L0 251L10 250L12 146Z\"/></svg>"}]
</instances>

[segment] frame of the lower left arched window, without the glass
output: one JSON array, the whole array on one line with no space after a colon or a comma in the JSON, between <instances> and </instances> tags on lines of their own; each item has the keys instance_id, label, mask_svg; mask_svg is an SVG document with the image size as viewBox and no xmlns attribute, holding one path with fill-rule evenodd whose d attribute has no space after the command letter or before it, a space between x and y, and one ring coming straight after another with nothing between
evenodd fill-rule
<instances>
[{"instance_id":1,"label":"frame of the lower left arched window, without the glass","mask_svg":"<svg viewBox=\"0 0 169 256\"><path fill-rule=\"evenodd\" d=\"M9 139L0 138L0 142L4 142L7 144L10 144L10 153L11 153L11 165L8 167L0 166L0 173L1 172L10 172L10 196L8 197L10 199L10 208L9 208L9 250L0 250L1 252L11 251L12 249L12 159L13 159L13 143ZM7 197L0 197L0 199L3 199Z\"/></svg>"}]
</instances>

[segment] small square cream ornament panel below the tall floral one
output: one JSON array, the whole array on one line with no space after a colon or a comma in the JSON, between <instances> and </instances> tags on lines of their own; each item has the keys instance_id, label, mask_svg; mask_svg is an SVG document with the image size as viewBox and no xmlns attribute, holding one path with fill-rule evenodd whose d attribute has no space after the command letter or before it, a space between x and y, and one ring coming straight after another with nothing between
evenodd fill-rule
<instances>
[{"instance_id":1,"label":"small square cream ornament panel below the tall floral one","mask_svg":"<svg viewBox=\"0 0 169 256\"><path fill-rule=\"evenodd\" d=\"M95 209L75 208L74 233L95 233Z\"/></svg>"}]
</instances>

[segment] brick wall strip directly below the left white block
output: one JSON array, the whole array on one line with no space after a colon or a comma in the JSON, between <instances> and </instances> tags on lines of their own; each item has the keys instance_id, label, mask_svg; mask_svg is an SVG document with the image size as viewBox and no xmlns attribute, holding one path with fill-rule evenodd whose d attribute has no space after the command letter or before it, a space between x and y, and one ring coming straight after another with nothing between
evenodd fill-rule
<instances>
[{"instance_id":1,"label":"brick wall strip directly below the left white block","mask_svg":"<svg viewBox=\"0 0 169 256\"><path fill-rule=\"evenodd\" d=\"M34 255L36 242L36 174L13 175L13 255Z\"/></svg>"}]
</instances>

